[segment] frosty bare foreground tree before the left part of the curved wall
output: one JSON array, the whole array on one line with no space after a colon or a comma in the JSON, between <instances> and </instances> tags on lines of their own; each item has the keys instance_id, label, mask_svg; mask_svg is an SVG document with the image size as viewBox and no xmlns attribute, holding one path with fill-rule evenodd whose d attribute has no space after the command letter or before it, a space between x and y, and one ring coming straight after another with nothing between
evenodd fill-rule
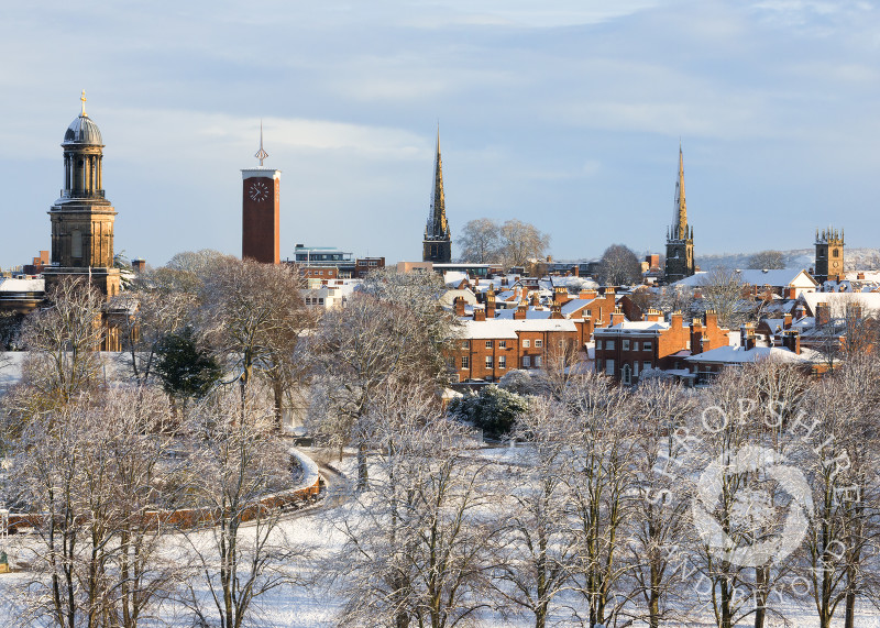
<instances>
[{"instance_id":1,"label":"frosty bare foreground tree before the left part of the curved wall","mask_svg":"<svg viewBox=\"0 0 880 628\"><path fill-rule=\"evenodd\" d=\"M210 530L186 535L189 573L182 602L198 626L240 628L267 592L289 582L280 566L301 549L278 536L279 511L258 505L290 485L290 456L273 431L273 410L249 386L248 420L235 393L219 389L191 414L191 507ZM207 595L200 593L207 588Z\"/></svg>"}]
</instances>

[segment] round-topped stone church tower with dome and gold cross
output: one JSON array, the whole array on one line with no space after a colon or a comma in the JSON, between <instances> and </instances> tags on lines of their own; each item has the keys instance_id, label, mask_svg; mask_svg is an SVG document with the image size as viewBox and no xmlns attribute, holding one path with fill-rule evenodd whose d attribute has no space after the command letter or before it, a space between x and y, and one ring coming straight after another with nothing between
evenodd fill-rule
<instances>
[{"instance_id":1,"label":"round-topped stone church tower with dome and gold cross","mask_svg":"<svg viewBox=\"0 0 880 628\"><path fill-rule=\"evenodd\" d=\"M103 143L98 125L82 110L64 134L64 187L52 206L52 265L43 271L46 290L66 276L88 279L108 297L119 294L113 267L113 222L117 212L105 197Z\"/></svg>"}]
</instances>

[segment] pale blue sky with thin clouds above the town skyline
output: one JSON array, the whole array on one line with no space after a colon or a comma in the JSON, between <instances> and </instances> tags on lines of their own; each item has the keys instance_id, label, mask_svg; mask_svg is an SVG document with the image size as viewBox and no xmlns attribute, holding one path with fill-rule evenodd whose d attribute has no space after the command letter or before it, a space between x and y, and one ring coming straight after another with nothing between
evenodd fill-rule
<instances>
[{"instance_id":1,"label":"pale blue sky with thin clouds above the town skyline","mask_svg":"<svg viewBox=\"0 0 880 628\"><path fill-rule=\"evenodd\" d=\"M50 247L59 146L106 144L116 251L241 254L241 168L296 243L420 260L437 128L454 240L518 219L558 260L880 246L880 4L850 0L44 0L0 9L0 268Z\"/></svg>"}]
</instances>

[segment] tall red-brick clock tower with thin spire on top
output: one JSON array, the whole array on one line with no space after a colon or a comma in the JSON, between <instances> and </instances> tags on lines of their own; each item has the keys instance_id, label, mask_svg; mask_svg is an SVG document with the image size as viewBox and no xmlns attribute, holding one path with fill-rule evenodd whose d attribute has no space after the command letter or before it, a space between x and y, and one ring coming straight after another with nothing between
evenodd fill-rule
<instances>
[{"instance_id":1,"label":"tall red-brick clock tower with thin spire on top","mask_svg":"<svg viewBox=\"0 0 880 628\"><path fill-rule=\"evenodd\" d=\"M254 155L260 167L243 169L241 256L264 264L280 260L278 217L280 214L282 172L263 166L268 154L263 150L263 123L260 123L260 151Z\"/></svg>"}]
</instances>

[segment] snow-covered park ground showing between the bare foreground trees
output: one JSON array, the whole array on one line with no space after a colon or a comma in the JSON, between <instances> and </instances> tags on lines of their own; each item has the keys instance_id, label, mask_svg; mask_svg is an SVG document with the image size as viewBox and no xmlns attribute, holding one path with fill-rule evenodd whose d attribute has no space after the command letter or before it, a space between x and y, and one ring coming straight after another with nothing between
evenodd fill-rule
<instances>
[{"instance_id":1,"label":"snow-covered park ground showing between the bare foreground trees","mask_svg":"<svg viewBox=\"0 0 880 628\"><path fill-rule=\"evenodd\" d=\"M482 454L494 461L515 462L516 450L498 448L482 450ZM354 458L349 455L341 463L333 462L346 476L352 477L355 472ZM332 561L344 543L344 536L339 530L343 518L360 517L358 507L346 499L349 487L337 481L331 483L331 488L322 504L308 513L299 513L286 517L276 530L278 540L289 547L304 548L301 557L285 565L292 579L304 584L280 586L260 598L253 608L251 626L265 628L323 628L338 626L337 614L342 607L341 582L333 581L323 573L327 561ZM180 561L189 551L190 543L210 543L211 532L202 531L199 535L185 539L183 536L169 537L166 552L169 557L180 557ZM9 539L10 559L24 560L28 554L28 535L13 536ZM306 552L308 548L308 553ZM341 570L344 576L344 569ZM16 619L18 608L21 604L19 587L24 585L30 577L26 571L0 575L0 625L20 626ZM208 591L201 590L199 594L206 599ZM812 598L804 598L800 606L789 604L784 606L785 619L769 618L768 628L818 627L815 612L812 608ZM833 623L834 627L843 627L843 605L838 612L839 617ZM703 628L714 627L708 606L690 609L686 621L670 621L663 626L670 628ZM145 621L143 626L194 626L191 615L182 605L166 603L161 609L161 618ZM501 615L483 614L477 618L476 625L486 627L526 628L534 626L534 618L529 616L502 617ZM564 610L558 610L548 623L549 626L583 626L580 621L571 619ZM626 624L623 619L616 626L646 626L644 623ZM612 624L610 626L615 626ZM737 624L738 627L751 627L751 618ZM861 609L856 620L856 628L880 628L880 614L873 609Z\"/></svg>"}]
</instances>

